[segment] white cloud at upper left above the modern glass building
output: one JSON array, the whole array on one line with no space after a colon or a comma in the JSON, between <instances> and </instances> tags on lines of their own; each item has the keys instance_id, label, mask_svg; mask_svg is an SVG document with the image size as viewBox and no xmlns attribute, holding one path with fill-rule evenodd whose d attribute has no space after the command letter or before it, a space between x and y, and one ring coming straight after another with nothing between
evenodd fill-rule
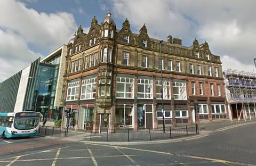
<instances>
[{"instance_id":1,"label":"white cloud at upper left above the modern glass building","mask_svg":"<svg viewBox=\"0 0 256 166\"><path fill-rule=\"evenodd\" d=\"M37 12L19 1L0 1L0 81L41 55L66 44L77 30L74 16L66 12Z\"/></svg>"}]
</instances>

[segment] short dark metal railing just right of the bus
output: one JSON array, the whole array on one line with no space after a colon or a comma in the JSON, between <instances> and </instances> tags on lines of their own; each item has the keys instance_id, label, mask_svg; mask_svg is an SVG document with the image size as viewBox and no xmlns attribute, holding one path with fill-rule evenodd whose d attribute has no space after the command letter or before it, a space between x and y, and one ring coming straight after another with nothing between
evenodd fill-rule
<instances>
[{"instance_id":1,"label":"short dark metal railing just right of the bus","mask_svg":"<svg viewBox=\"0 0 256 166\"><path fill-rule=\"evenodd\" d=\"M40 136L53 136L53 137L65 137L66 130L61 130L58 127L51 126L39 126L39 135Z\"/></svg>"}]
</instances>

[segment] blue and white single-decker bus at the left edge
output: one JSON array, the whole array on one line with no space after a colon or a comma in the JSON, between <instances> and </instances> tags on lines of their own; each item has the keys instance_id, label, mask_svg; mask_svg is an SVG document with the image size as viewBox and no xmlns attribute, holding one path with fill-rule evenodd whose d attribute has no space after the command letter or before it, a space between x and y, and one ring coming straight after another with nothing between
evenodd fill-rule
<instances>
[{"instance_id":1,"label":"blue and white single-decker bus at the left edge","mask_svg":"<svg viewBox=\"0 0 256 166\"><path fill-rule=\"evenodd\" d=\"M41 113L33 111L0 113L0 135L4 138L38 135Z\"/></svg>"}]
</instances>

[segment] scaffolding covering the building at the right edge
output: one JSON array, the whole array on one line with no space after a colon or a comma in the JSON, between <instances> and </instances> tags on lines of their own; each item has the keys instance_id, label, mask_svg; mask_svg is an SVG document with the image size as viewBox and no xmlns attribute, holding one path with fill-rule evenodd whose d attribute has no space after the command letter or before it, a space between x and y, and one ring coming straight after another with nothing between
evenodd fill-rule
<instances>
[{"instance_id":1,"label":"scaffolding covering the building at the right edge","mask_svg":"<svg viewBox=\"0 0 256 166\"><path fill-rule=\"evenodd\" d=\"M238 121L241 117L245 121L256 119L256 74L229 69L224 71L223 75L225 76L227 101L233 110L233 118L237 117ZM232 106L235 108L233 109Z\"/></svg>"}]
</instances>

